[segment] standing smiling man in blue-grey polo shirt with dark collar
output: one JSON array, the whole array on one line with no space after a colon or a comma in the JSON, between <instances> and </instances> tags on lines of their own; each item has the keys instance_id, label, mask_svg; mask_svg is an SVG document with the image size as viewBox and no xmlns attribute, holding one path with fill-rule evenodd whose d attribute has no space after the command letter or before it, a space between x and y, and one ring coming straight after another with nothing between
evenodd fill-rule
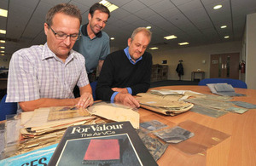
<instances>
[{"instance_id":1,"label":"standing smiling man in blue-grey polo shirt with dark collar","mask_svg":"<svg viewBox=\"0 0 256 166\"><path fill-rule=\"evenodd\" d=\"M90 83L95 81L96 67L101 72L102 64L110 53L109 37L104 31L110 12L107 7L95 3L90 7L89 23L80 27L81 37L73 49L84 55L86 72Z\"/></svg>"}]
</instances>

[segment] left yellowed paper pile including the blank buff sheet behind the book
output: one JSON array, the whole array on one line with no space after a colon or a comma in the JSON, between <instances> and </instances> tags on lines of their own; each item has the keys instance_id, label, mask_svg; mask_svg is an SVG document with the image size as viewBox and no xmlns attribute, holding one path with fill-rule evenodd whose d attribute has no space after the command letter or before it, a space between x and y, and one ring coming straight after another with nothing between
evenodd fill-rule
<instances>
[{"instance_id":1,"label":"left yellowed paper pile including the blank buff sheet behind the book","mask_svg":"<svg viewBox=\"0 0 256 166\"><path fill-rule=\"evenodd\" d=\"M131 108L100 102L88 109L60 106L22 112L17 154L58 143L67 127L73 125L130 121L135 129L139 128L139 114Z\"/></svg>"}]
</instances>

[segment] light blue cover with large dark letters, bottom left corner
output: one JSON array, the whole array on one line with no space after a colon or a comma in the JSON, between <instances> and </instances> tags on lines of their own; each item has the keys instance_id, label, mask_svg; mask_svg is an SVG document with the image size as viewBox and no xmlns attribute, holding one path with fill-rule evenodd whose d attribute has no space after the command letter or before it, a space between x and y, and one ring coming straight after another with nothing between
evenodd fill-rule
<instances>
[{"instance_id":1,"label":"light blue cover with large dark letters, bottom left corner","mask_svg":"<svg viewBox=\"0 0 256 166\"><path fill-rule=\"evenodd\" d=\"M49 159L55 152L57 144L46 146L32 152L26 152L14 157L9 157L0 160L0 165L11 166L11 165L44 165L49 163Z\"/></svg>"}]
</instances>

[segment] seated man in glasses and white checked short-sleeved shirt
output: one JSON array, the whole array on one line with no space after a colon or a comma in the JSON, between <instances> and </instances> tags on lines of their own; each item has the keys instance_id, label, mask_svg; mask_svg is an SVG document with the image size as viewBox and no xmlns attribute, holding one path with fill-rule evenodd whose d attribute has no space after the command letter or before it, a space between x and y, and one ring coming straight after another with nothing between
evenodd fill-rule
<instances>
[{"instance_id":1,"label":"seated man in glasses and white checked short-sleeved shirt","mask_svg":"<svg viewBox=\"0 0 256 166\"><path fill-rule=\"evenodd\" d=\"M44 23L47 43L20 49L10 60L7 102L19 102L24 112L47 106L92 105L84 56L72 49L81 20L79 9L71 4L49 9ZM74 99L76 84L81 97Z\"/></svg>"}]
</instances>

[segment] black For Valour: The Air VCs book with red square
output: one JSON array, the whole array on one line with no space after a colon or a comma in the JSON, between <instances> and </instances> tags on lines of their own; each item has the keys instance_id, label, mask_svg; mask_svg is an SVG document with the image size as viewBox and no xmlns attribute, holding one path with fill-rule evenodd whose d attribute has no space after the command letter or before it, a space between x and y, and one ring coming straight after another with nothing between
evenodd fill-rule
<instances>
[{"instance_id":1,"label":"black For Valour: The Air VCs book with red square","mask_svg":"<svg viewBox=\"0 0 256 166\"><path fill-rule=\"evenodd\" d=\"M67 128L51 165L157 165L130 122Z\"/></svg>"}]
</instances>

